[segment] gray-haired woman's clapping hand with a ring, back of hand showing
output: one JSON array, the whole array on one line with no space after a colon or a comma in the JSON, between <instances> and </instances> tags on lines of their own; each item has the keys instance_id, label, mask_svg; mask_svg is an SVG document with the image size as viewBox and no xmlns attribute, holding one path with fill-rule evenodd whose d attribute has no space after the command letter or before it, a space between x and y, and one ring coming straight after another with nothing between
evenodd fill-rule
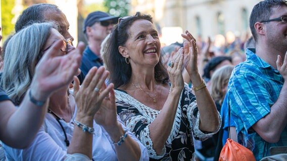
<instances>
[{"instance_id":1,"label":"gray-haired woman's clapping hand with a ring, back of hand showing","mask_svg":"<svg viewBox=\"0 0 287 161\"><path fill-rule=\"evenodd\" d=\"M113 88L113 86L103 88L108 75L109 71L105 70L104 66L101 66L99 69L92 67L81 87L79 87L79 79L74 76L74 96L79 117L86 115L93 118L95 113L98 112L104 98L109 95L110 90Z\"/></svg>"}]
</instances>

